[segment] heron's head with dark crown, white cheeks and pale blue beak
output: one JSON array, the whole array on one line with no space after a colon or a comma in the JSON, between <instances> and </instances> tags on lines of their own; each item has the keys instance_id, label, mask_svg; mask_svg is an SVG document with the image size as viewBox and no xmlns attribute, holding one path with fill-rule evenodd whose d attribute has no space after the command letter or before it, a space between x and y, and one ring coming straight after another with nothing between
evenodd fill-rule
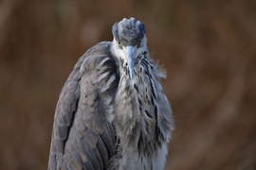
<instances>
[{"instance_id":1,"label":"heron's head with dark crown, white cheeks and pale blue beak","mask_svg":"<svg viewBox=\"0 0 256 170\"><path fill-rule=\"evenodd\" d=\"M114 53L128 64L129 76L134 76L135 59L138 54L148 51L146 29L135 18L124 18L112 27Z\"/></svg>"}]
</instances>

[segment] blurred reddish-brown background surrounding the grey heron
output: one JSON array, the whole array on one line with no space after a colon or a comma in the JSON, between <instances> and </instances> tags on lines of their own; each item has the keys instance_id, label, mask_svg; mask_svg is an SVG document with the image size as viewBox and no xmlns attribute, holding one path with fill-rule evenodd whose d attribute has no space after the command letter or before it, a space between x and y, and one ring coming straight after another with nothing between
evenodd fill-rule
<instances>
[{"instance_id":1,"label":"blurred reddish-brown background surrounding the grey heron","mask_svg":"<svg viewBox=\"0 0 256 170\"><path fill-rule=\"evenodd\" d=\"M256 169L255 0L0 0L0 169L46 169L66 77L131 16L168 72L166 170Z\"/></svg>"}]
</instances>

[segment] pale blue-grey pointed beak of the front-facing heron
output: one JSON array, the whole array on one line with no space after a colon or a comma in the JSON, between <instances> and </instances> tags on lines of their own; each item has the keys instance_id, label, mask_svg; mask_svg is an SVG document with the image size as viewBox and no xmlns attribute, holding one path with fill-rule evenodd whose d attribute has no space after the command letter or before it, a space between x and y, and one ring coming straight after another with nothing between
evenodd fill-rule
<instances>
[{"instance_id":1,"label":"pale blue-grey pointed beak of the front-facing heron","mask_svg":"<svg viewBox=\"0 0 256 170\"><path fill-rule=\"evenodd\" d=\"M124 55L128 60L128 66L130 70L130 77L134 77L134 65L136 58L137 47L133 45L127 45L124 47Z\"/></svg>"}]
</instances>

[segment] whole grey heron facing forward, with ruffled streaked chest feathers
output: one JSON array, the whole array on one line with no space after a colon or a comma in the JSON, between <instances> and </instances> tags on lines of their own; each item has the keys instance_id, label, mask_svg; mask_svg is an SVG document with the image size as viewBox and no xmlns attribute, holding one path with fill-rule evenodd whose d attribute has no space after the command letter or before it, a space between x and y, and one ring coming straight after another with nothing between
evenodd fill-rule
<instances>
[{"instance_id":1,"label":"whole grey heron facing forward, with ruffled streaked chest feathers","mask_svg":"<svg viewBox=\"0 0 256 170\"><path fill-rule=\"evenodd\" d=\"M163 169L174 129L145 26L112 28L68 76L55 110L48 169Z\"/></svg>"}]
</instances>

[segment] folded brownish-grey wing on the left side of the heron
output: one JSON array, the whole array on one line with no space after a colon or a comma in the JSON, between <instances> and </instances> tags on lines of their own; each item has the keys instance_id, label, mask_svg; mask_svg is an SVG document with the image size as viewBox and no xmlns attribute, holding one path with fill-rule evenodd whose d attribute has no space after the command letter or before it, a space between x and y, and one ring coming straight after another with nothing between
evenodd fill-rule
<instances>
[{"instance_id":1,"label":"folded brownish-grey wing on the left side of the heron","mask_svg":"<svg viewBox=\"0 0 256 170\"><path fill-rule=\"evenodd\" d=\"M79 59L55 110L48 169L105 169L115 154L112 111L118 75L109 43Z\"/></svg>"}]
</instances>

